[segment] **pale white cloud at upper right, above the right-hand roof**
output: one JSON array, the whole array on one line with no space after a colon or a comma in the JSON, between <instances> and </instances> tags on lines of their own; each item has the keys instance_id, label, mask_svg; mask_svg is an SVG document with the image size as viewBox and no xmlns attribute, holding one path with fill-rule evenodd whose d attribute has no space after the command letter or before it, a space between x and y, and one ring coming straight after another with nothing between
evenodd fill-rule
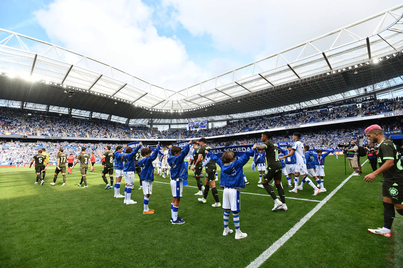
<instances>
[{"instance_id":1,"label":"pale white cloud at upper right, above the right-hand roof","mask_svg":"<svg viewBox=\"0 0 403 268\"><path fill-rule=\"evenodd\" d=\"M223 52L237 51L232 53L235 57L236 54L249 55L251 61L366 18L400 2L163 0L165 6L174 7L176 14L172 18L192 35L209 35L216 49ZM366 30L363 37L373 31ZM329 47L320 49L326 50Z\"/></svg>"}]
</instances>

